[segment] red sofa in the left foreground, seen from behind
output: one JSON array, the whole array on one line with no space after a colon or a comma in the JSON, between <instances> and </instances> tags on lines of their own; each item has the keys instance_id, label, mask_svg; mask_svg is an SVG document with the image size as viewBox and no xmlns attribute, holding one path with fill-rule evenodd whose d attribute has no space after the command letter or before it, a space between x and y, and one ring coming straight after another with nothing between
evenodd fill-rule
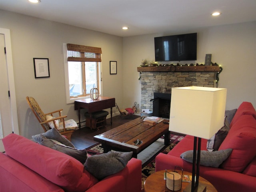
<instances>
[{"instance_id":1,"label":"red sofa in the left foreground, seen from behind","mask_svg":"<svg viewBox=\"0 0 256 192\"><path fill-rule=\"evenodd\" d=\"M22 136L10 134L3 143L2 192L141 192L141 161L135 158L120 172L98 181L78 160Z\"/></svg>"}]
</instances>

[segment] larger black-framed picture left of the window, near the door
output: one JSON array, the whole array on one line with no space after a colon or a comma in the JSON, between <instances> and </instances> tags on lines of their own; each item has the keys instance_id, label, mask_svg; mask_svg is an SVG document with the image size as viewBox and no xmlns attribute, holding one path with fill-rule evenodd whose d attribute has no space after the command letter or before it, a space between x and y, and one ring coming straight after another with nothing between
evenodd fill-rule
<instances>
[{"instance_id":1,"label":"larger black-framed picture left of the window, near the door","mask_svg":"<svg viewBox=\"0 0 256 192\"><path fill-rule=\"evenodd\" d=\"M50 77L49 59L33 58L35 78Z\"/></svg>"}]
</instances>

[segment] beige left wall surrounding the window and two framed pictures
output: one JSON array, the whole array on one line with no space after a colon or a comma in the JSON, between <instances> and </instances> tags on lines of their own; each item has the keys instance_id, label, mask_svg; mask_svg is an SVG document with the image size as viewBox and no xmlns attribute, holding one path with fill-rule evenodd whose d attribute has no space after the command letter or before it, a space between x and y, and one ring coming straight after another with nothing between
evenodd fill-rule
<instances>
[{"instance_id":1,"label":"beige left wall surrounding the window and two framed pictures","mask_svg":"<svg viewBox=\"0 0 256 192\"><path fill-rule=\"evenodd\" d=\"M63 114L78 121L74 104L66 104L63 43L102 48L103 94L122 104L122 91L118 90L122 89L122 38L2 10L0 18L0 28L10 29L11 34L21 135L31 138L43 132L26 96L33 96L45 113L62 108ZM50 78L34 78L33 58L49 58ZM110 76L109 61L117 61L117 75ZM113 108L113 112L118 110Z\"/></svg>"}]
</instances>

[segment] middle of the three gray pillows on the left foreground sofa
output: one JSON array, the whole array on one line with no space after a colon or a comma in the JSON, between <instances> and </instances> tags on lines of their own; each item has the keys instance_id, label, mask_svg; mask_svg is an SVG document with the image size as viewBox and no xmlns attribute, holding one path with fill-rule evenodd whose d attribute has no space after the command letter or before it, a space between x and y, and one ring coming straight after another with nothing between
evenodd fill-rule
<instances>
[{"instance_id":1,"label":"middle of the three gray pillows on the left foreground sofa","mask_svg":"<svg viewBox=\"0 0 256 192\"><path fill-rule=\"evenodd\" d=\"M41 145L52 148L54 150L60 151L62 153L65 153L69 156L72 156L73 158L77 159L80 161L82 164L85 163L86 158L87 158L87 152L86 150L78 150L69 146L65 146L63 144L58 144L54 142L53 140L50 139L44 139L41 143Z\"/></svg>"}]
</instances>

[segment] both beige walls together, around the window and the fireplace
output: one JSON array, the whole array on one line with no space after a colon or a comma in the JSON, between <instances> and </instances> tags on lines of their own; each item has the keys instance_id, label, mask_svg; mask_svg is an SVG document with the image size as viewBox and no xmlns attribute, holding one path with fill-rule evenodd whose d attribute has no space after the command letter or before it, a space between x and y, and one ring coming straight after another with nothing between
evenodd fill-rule
<instances>
[{"instance_id":1,"label":"both beige walls together, around the window and the fireplace","mask_svg":"<svg viewBox=\"0 0 256 192\"><path fill-rule=\"evenodd\" d=\"M43 130L26 103L33 96L44 112L63 108L64 114L78 121L74 104L65 102L63 43L102 48L104 96L116 98L120 108L140 104L137 67L142 59L154 60L154 37L150 34L121 38L101 32L42 20L0 10L0 28L10 29L18 121L20 134L31 138ZM256 107L256 22L215 26L198 32L198 63L205 54L224 68L220 88L228 88L227 109L242 101ZM49 58L50 78L35 79L33 58ZM110 75L109 61L117 61L117 75ZM118 113L113 108L114 113Z\"/></svg>"}]
</instances>

